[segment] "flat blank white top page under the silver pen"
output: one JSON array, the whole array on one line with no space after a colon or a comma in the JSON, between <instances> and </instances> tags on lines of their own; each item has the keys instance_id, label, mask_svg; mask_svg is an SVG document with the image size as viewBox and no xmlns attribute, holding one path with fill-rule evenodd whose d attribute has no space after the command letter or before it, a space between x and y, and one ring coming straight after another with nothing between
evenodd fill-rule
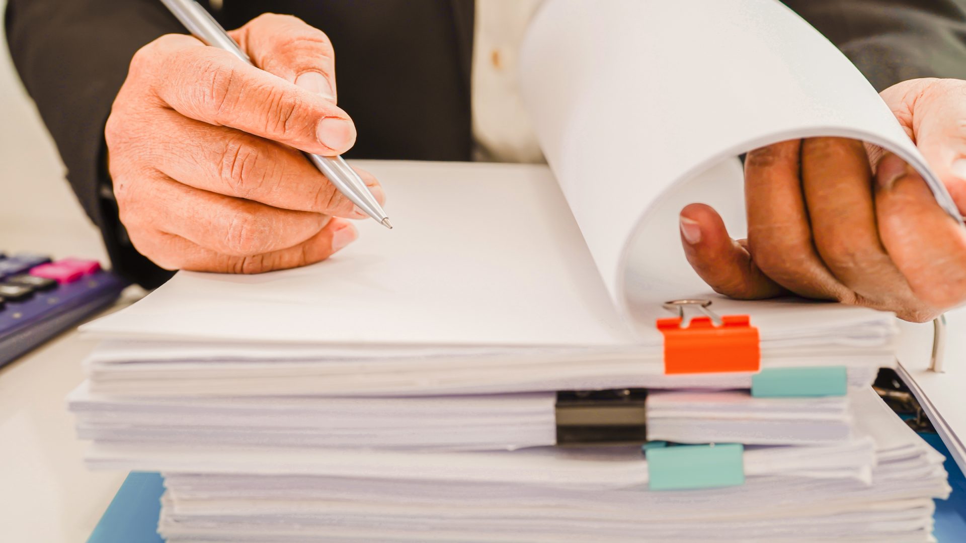
<instances>
[{"instance_id":1,"label":"flat blank white top page under the silver pen","mask_svg":"<svg viewBox=\"0 0 966 543\"><path fill-rule=\"evenodd\" d=\"M364 345L376 358L414 346L449 355L467 346L549 346L558 353L596 347L660 356L653 326L635 337L617 314L545 166L363 165L392 195L394 230L360 222L358 242L297 270L179 272L144 300L83 329L141 340ZM676 231L671 238L678 243ZM861 307L721 297L715 303L723 313L752 313L763 349L771 342L883 347L895 328L889 314ZM339 352L346 350L333 354Z\"/></svg>"}]
</instances>

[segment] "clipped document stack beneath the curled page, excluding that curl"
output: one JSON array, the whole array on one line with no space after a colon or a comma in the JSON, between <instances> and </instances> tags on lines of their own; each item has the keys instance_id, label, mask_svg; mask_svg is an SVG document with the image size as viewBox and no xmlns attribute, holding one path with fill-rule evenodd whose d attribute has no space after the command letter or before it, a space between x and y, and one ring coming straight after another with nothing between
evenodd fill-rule
<instances>
[{"instance_id":1,"label":"clipped document stack beneath the curled page, excluding that curl","mask_svg":"<svg viewBox=\"0 0 966 543\"><path fill-rule=\"evenodd\" d=\"M169 542L930 539L942 456L869 387L892 315L685 291L724 322L671 305L677 330L738 344L689 361L663 303L628 331L547 168L367 167L411 226L304 269L180 272L88 327L87 461L162 472ZM465 191L468 224L509 213L419 220Z\"/></svg>"}]
</instances>

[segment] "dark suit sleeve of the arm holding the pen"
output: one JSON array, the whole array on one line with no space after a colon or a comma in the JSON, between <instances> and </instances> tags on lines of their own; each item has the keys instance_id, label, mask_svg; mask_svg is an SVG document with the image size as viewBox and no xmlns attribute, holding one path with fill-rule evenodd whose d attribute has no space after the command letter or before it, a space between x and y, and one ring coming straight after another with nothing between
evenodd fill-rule
<instances>
[{"instance_id":1,"label":"dark suit sleeve of the arm holding the pen","mask_svg":"<svg viewBox=\"0 0 966 543\"><path fill-rule=\"evenodd\" d=\"M100 227L114 269L156 286L170 273L138 254L119 224L103 129L134 52L184 30L157 0L10 0L6 29L16 70L57 143L77 199Z\"/></svg>"}]
</instances>

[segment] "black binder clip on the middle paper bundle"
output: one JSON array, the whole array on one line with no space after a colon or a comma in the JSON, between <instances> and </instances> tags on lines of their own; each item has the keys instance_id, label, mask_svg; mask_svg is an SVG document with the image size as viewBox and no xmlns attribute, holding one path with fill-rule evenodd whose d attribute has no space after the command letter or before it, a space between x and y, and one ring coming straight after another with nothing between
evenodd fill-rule
<instances>
[{"instance_id":1,"label":"black binder clip on the middle paper bundle","mask_svg":"<svg viewBox=\"0 0 966 543\"><path fill-rule=\"evenodd\" d=\"M646 388L558 391L556 444L645 443L646 399Z\"/></svg>"}]
</instances>

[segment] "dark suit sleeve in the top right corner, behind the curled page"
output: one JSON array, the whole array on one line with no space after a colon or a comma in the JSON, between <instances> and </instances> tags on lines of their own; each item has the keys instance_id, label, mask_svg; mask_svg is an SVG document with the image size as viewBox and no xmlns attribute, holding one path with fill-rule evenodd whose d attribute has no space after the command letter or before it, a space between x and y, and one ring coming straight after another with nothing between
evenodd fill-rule
<instances>
[{"instance_id":1,"label":"dark suit sleeve in the top right corner, behind the curled page","mask_svg":"<svg viewBox=\"0 0 966 543\"><path fill-rule=\"evenodd\" d=\"M966 79L966 4L957 0L785 0L879 91L906 79Z\"/></svg>"}]
</instances>

